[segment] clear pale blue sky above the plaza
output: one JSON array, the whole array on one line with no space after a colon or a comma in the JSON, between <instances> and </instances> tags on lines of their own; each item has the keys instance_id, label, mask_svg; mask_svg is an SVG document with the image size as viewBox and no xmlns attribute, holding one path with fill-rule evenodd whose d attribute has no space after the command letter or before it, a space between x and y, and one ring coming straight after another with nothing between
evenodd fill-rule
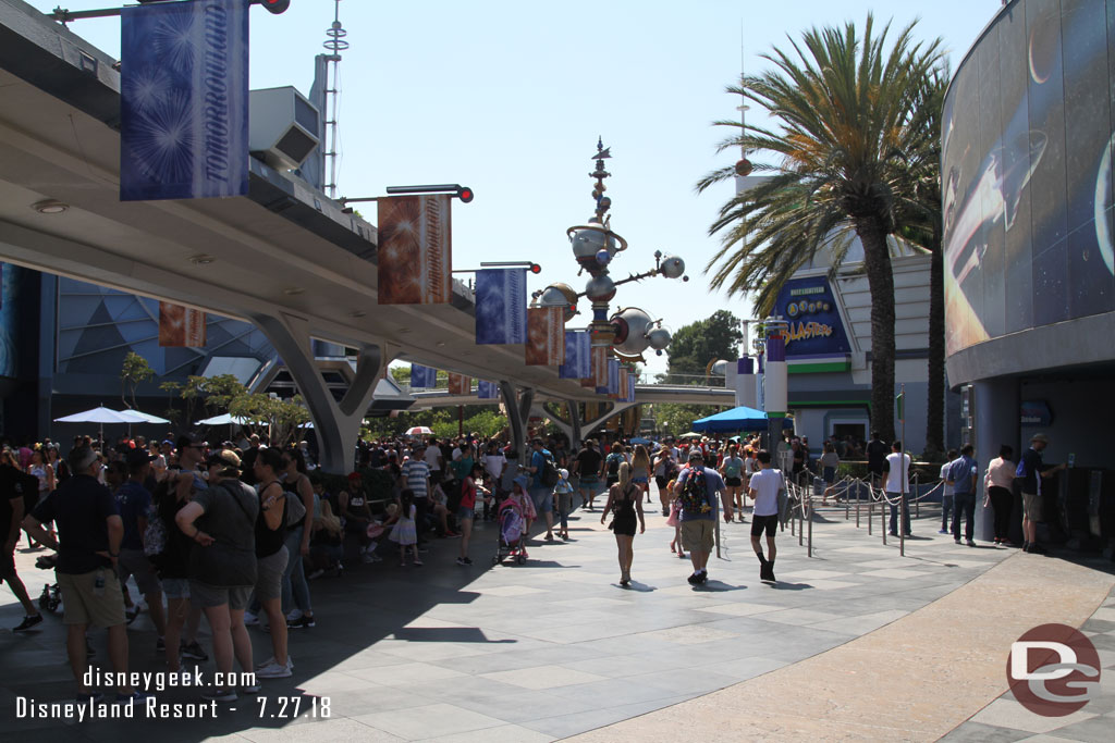
<instances>
[{"instance_id":1,"label":"clear pale blue sky above the plaza","mask_svg":"<svg viewBox=\"0 0 1115 743\"><path fill-rule=\"evenodd\" d=\"M33 0L49 11L112 7L105 0ZM252 10L251 85L309 91L333 0L293 0L282 16ZM462 183L476 199L455 204L454 265L533 260L541 277L583 290L566 227L592 213L598 135L612 148L612 228L630 243L614 277L653 263L656 250L685 258L688 284L656 278L620 289L613 306L641 306L677 329L741 297L710 293L704 270L718 245L707 227L731 185L697 196L705 173L735 162L716 154L729 134L710 126L738 116L724 92L738 78L740 28L749 72L773 46L808 26L856 21L874 10L894 27L921 18L915 35L941 37L952 69L999 10L999 0L932 3L860 0L691 0L687 3L376 2L342 0L351 49L341 63L340 195L372 196L389 185ZM70 28L119 53L118 19ZM754 108L748 117L762 117ZM372 211L372 221L374 211ZM583 326L590 310L585 300ZM666 356L650 356L665 369Z\"/></svg>"}]
</instances>

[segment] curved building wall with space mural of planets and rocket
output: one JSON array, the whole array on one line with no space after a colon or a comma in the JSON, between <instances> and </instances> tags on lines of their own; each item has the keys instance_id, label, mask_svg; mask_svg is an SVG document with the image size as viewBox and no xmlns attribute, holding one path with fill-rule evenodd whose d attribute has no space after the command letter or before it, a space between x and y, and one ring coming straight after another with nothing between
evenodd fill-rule
<instances>
[{"instance_id":1,"label":"curved building wall with space mural of planets and rocket","mask_svg":"<svg viewBox=\"0 0 1115 743\"><path fill-rule=\"evenodd\" d=\"M1115 0L1016 0L957 70L941 162L952 384L1115 358L1113 82Z\"/></svg>"}]
</instances>

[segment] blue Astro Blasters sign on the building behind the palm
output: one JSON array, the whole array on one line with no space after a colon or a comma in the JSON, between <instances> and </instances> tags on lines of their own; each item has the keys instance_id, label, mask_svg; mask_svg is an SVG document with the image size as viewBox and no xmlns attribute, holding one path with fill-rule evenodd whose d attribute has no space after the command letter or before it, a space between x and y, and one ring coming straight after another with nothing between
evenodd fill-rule
<instances>
[{"instance_id":1,"label":"blue Astro Blasters sign on the building behind the palm","mask_svg":"<svg viewBox=\"0 0 1115 743\"><path fill-rule=\"evenodd\" d=\"M838 355L851 346L836 300L824 276L792 278L778 293L775 314L786 319L786 358Z\"/></svg>"}]
</instances>

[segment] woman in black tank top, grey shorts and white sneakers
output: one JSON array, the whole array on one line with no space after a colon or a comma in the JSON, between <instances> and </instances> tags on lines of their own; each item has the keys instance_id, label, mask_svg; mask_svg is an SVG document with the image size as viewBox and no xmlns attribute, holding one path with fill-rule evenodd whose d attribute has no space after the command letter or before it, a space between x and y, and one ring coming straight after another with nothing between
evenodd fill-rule
<instances>
[{"instance_id":1,"label":"woman in black tank top, grey shorts and white sneakers","mask_svg":"<svg viewBox=\"0 0 1115 743\"><path fill-rule=\"evenodd\" d=\"M266 612L271 625L271 649L255 675L260 678L287 678L293 662L287 654L287 617L282 613L282 577L290 559L287 538L287 491L279 482L283 453L260 449L255 458L255 481L260 489L260 515L255 519L255 600Z\"/></svg>"}]
</instances>

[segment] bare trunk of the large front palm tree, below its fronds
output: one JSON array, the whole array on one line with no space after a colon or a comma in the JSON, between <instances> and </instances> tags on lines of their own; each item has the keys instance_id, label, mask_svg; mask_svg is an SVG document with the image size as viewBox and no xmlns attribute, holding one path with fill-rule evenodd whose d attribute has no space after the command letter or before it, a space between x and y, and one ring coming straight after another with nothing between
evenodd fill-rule
<instances>
[{"instance_id":1,"label":"bare trunk of the large front palm tree, below its fronds","mask_svg":"<svg viewBox=\"0 0 1115 743\"><path fill-rule=\"evenodd\" d=\"M878 217L860 217L855 232L871 290L871 429L894 440L894 273Z\"/></svg>"}]
</instances>

